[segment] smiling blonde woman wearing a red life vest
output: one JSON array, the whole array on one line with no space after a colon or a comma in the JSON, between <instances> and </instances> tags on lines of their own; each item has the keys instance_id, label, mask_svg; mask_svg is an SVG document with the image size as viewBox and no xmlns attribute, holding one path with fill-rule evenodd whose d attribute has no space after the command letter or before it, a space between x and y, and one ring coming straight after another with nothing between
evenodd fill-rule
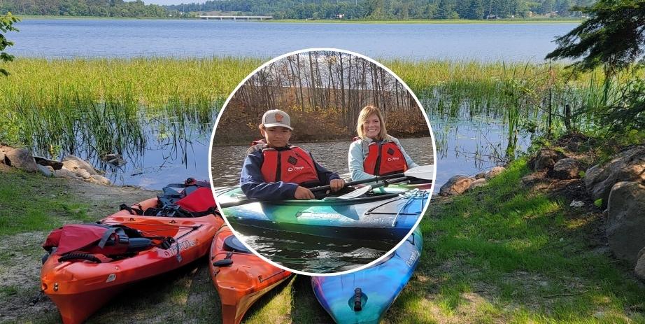
<instances>
[{"instance_id":1,"label":"smiling blonde woman wearing a red life vest","mask_svg":"<svg viewBox=\"0 0 645 324\"><path fill-rule=\"evenodd\" d=\"M375 106L365 106L358 115L358 137L349 146L352 181L398 174L418 167L405 153L398 139L388 135L383 114Z\"/></svg>"}]
</instances>

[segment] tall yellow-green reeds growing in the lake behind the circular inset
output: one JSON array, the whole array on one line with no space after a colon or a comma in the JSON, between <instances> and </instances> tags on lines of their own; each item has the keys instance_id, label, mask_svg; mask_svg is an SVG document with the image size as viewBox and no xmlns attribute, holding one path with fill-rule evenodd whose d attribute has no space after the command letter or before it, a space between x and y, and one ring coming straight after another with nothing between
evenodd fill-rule
<instances>
[{"instance_id":1,"label":"tall yellow-green reeds growing in the lake behind the circular inset","mask_svg":"<svg viewBox=\"0 0 645 324\"><path fill-rule=\"evenodd\" d=\"M5 65L11 75L0 78L0 141L25 145L37 139L35 146L42 153L77 146L72 142L82 136L98 143L101 152L114 152L124 150L125 142L141 142L142 120L212 125L213 114L229 93L264 62L238 57L17 57ZM578 95L577 91L596 95L597 88L590 85L602 78L597 71L570 79L564 64L381 62L411 87L429 115L441 118L458 115L465 104L473 114L504 116L508 106L504 96L521 84L544 91L549 82L567 80L570 87L563 95ZM109 135L115 133L120 134L118 143Z\"/></svg>"}]
</instances>

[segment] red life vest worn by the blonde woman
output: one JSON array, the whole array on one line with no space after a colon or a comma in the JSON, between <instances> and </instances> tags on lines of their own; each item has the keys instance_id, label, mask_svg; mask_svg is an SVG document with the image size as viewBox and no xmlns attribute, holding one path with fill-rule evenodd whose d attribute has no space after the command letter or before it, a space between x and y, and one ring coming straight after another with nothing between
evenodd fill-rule
<instances>
[{"instance_id":1,"label":"red life vest worn by the blonde woman","mask_svg":"<svg viewBox=\"0 0 645 324\"><path fill-rule=\"evenodd\" d=\"M374 176L386 176L405 172L408 164L397 143L369 143L367 157L363 161L363 171Z\"/></svg>"}]
</instances>

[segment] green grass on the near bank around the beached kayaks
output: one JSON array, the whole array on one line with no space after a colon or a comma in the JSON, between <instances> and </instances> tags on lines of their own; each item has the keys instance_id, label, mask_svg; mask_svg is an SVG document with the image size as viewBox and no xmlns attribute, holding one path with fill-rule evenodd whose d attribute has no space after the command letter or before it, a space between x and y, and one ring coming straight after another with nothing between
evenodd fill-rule
<instances>
[{"instance_id":1,"label":"green grass on the near bank around the beached kayaks","mask_svg":"<svg viewBox=\"0 0 645 324\"><path fill-rule=\"evenodd\" d=\"M72 206L56 211L60 220L98 219L110 207L115 211L116 204L139 199L114 192L106 195L105 187L94 185L103 194L99 210L93 207L97 197L87 197L90 189L76 188L71 181L0 172L0 193L11 192L13 202L42 196L40 204ZM521 185L520 178L528 172L526 161L520 159L483 188L451 199L433 199L420 225L424 235L420 264L386 314L385 323L645 323L645 286L603 248L602 241L590 241L602 225L602 211L591 202L586 209L575 209L557 194ZM15 183L21 183L22 189L16 190ZM110 199L113 206L104 206ZM16 215L41 208L0 201L0 210ZM0 250L0 269L8 276L20 270L24 282L0 283L0 304L17 307L24 316L21 321L56 323L57 311L51 302L45 299L38 307L29 307L27 300L38 289L38 239L57 224L45 218L32 228L26 220L18 221L22 225L3 234L6 244ZM25 239L25 233L31 239ZM17 264L22 264L20 269ZM133 321L211 323L220 318L218 303L206 262L199 260L137 284L88 323L101 323L124 312ZM0 311L1 316L14 313ZM304 276L260 300L246 316L246 323L275 318L291 323L331 321L318 307ZM0 318L5 320L12 321Z\"/></svg>"}]
</instances>

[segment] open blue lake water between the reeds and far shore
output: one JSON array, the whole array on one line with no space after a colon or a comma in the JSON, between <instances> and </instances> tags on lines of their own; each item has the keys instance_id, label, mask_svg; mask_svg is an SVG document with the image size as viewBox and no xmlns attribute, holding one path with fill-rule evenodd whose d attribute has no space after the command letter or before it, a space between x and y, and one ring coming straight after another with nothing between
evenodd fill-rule
<instances>
[{"instance_id":1,"label":"open blue lake water between the reeds and far shore","mask_svg":"<svg viewBox=\"0 0 645 324\"><path fill-rule=\"evenodd\" d=\"M575 23L325 24L34 19L8 34L22 57L262 57L341 48L375 58L541 61Z\"/></svg>"}]
</instances>

